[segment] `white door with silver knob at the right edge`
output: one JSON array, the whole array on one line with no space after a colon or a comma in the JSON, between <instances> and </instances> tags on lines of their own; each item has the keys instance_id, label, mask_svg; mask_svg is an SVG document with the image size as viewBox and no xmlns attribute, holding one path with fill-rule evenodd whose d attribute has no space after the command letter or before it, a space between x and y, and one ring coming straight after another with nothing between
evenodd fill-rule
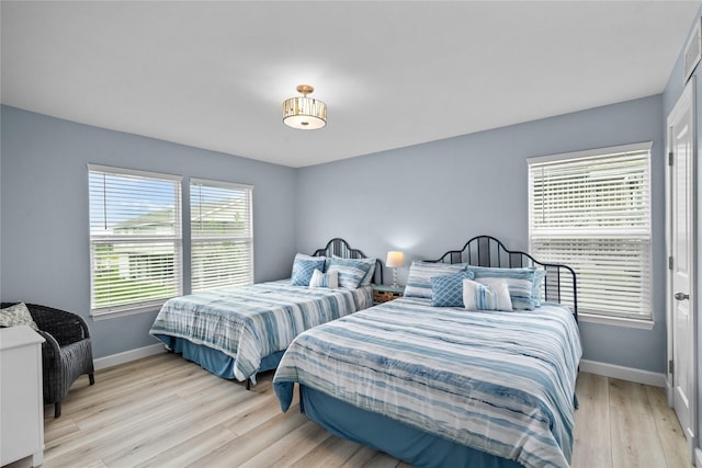
<instances>
[{"instance_id":1,"label":"white door with silver knob at the right edge","mask_svg":"<svg viewBox=\"0 0 702 468\"><path fill-rule=\"evenodd\" d=\"M694 310L694 84L691 80L668 116L668 368L671 406L697 446L697 343Z\"/></svg>"}]
</instances>

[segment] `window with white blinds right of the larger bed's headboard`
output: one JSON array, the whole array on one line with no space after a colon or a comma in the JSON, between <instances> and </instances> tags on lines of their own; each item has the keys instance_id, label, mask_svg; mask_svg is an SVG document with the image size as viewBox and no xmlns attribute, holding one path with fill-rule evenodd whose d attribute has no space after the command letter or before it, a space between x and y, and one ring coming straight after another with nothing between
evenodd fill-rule
<instances>
[{"instance_id":1,"label":"window with white blinds right of the larger bed's headboard","mask_svg":"<svg viewBox=\"0 0 702 468\"><path fill-rule=\"evenodd\" d=\"M529 159L531 253L575 269L581 313L652 319L650 147Z\"/></svg>"}]
</instances>

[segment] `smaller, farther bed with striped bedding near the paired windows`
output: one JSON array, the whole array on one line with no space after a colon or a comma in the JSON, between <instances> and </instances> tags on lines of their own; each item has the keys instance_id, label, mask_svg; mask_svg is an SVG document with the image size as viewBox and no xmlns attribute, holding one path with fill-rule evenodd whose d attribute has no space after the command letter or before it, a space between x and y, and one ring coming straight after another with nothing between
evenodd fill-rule
<instances>
[{"instance_id":1,"label":"smaller, farther bed with striped bedding near the paired windows","mask_svg":"<svg viewBox=\"0 0 702 468\"><path fill-rule=\"evenodd\" d=\"M347 284L358 284L310 287L313 269L338 270ZM248 388L257 373L278 366L297 334L370 307L371 281L382 282L382 275L376 259L336 238L313 255L297 254L290 279L169 299L149 332L169 351L219 377L246 380Z\"/></svg>"}]
</instances>

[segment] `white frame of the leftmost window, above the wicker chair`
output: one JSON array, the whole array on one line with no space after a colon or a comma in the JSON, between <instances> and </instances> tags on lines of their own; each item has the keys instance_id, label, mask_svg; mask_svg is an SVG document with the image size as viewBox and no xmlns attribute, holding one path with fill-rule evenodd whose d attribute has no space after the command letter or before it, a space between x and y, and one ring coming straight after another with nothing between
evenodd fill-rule
<instances>
[{"instance_id":1,"label":"white frame of the leftmost window, above the wicker chair","mask_svg":"<svg viewBox=\"0 0 702 468\"><path fill-rule=\"evenodd\" d=\"M107 175L116 176L133 176L144 178L161 182L170 182L173 184L173 210L174 210L174 227L172 235L94 235L92 231L93 218L92 218L92 191L90 186L90 180L92 173L103 173ZM88 230L89 230L89 243L90 243L90 316L93 319L100 319L104 317L117 317L123 315L139 313L143 311L155 310L159 308L168 298L172 297L159 297L154 299L140 299L126 304L112 304L109 306L97 307L95 301L95 247L104 243L116 244L137 244L147 242L163 242L173 246L173 284L174 295L180 296L183 294L183 213L182 213L182 180L183 178L174 174L167 174L160 172L140 171L135 169L115 168L100 164L88 164ZM104 192L103 192L104 193ZM105 204L104 209L106 210ZM170 287L170 286L169 286Z\"/></svg>"}]
</instances>

